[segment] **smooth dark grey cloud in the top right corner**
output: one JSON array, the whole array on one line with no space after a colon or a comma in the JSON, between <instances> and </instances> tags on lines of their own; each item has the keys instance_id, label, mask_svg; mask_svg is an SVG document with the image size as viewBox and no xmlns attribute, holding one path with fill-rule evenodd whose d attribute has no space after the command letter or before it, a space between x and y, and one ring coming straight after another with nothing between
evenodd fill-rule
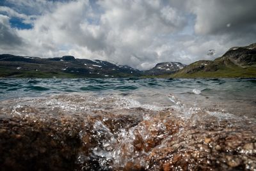
<instances>
[{"instance_id":1,"label":"smooth dark grey cloud in the top right corner","mask_svg":"<svg viewBox=\"0 0 256 171\"><path fill-rule=\"evenodd\" d=\"M256 31L256 1L193 0L188 6L196 15L195 31L198 34Z\"/></svg>"}]
</instances>

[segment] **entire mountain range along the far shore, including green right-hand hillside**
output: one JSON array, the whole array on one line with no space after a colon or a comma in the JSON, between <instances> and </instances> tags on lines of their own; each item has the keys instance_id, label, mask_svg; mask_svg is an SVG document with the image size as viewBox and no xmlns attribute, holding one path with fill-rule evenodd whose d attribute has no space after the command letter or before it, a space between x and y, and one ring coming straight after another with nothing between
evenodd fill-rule
<instances>
[{"instance_id":1,"label":"entire mountain range along the far shore, including green right-hand hillside","mask_svg":"<svg viewBox=\"0 0 256 171\"><path fill-rule=\"evenodd\" d=\"M2 54L0 55L0 77L256 77L256 43L246 47L232 47L223 56L213 61L196 61L188 66L177 62L158 63L154 68L146 71L97 59L76 59L74 56L40 58Z\"/></svg>"}]
</instances>

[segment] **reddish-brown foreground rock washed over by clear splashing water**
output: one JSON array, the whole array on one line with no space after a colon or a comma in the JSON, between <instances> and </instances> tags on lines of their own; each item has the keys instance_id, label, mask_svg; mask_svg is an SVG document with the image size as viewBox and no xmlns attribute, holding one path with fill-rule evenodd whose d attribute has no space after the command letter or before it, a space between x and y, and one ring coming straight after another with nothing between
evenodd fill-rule
<instances>
[{"instance_id":1,"label":"reddish-brown foreground rock washed over by clear splashing water","mask_svg":"<svg viewBox=\"0 0 256 171\"><path fill-rule=\"evenodd\" d=\"M54 100L60 105L70 98ZM81 110L50 102L2 103L1 170L256 169L253 120L204 110Z\"/></svg>"}]
</instances>

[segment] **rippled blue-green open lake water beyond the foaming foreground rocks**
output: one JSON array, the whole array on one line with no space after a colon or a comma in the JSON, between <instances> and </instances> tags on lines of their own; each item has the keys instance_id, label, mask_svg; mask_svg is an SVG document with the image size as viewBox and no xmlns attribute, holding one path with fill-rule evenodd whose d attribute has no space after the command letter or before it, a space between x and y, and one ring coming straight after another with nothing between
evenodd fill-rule
<instances>
[{"instance_id":1,"label":"rippled blue-green open lake water beyond the foaming foreground rocks","mask_svg":"<svg viewBox=\"0 0 256 171\"><path fill-rule=\"evenodd\" d=\"M186 106L215 108L255 117L255 79L2 79L0 100L54 94L118 96L141 104L170 106L170 97Z\"/></svg>"}]
</instances>

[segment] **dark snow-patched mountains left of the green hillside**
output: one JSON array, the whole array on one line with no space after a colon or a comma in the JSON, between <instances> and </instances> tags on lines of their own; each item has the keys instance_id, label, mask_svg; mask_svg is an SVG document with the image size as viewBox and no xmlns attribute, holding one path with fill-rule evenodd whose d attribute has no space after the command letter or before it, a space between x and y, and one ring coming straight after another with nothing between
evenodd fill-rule
<instances>
[{"instance_id":1,"label":"dark snow-patched mountains left of the green hillside","mask_svg":"<svg viewBox=\"0 0 256 171\"><path fill-rule=\"evenodd\" d=\"M183 68L181 63L159 63L147 71L108 61L76 59L74 56L40 58L28 56L0 55L0 77L143 77L175 73Z\"/></svg>"}]
</instances>

